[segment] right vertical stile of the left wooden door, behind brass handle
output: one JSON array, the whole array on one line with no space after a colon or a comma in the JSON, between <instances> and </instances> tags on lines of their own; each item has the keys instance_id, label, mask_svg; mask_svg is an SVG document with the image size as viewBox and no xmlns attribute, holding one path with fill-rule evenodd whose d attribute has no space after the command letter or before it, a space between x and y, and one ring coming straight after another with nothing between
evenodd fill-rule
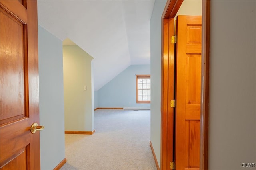
<instances>
[{"instance_id":1,"label":"right vertical stile of the left wooden door, behind brass handle","mask_svg":"<svg viewBox=\"0 0 256 170\"><path fill-rule=\"evenodd\" d=\"M37 1L27 1L28 11L28 79L29 79L29 111L31 125L39 123L39 74L38 74L38 23ZM30 125L30 126L31 126ZM40 132L33 134L30 143L31 169L40 167Z\"/></svg>"}]
</instances>

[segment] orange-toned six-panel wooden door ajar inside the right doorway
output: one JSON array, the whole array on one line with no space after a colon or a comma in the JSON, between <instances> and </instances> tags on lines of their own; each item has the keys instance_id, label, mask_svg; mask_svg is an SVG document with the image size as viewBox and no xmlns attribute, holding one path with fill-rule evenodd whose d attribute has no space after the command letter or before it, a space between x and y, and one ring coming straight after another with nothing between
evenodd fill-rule
<instances>
[{"instance_id":1,"label":"orange-toned six-panel wooden door ajar inside the right doorway","mask_svg":"<svg viewBox=\"0 0 256 170\"><path fill-rule=\"evenodd\" d=\"M201 16L178 16L176 57L176 170L200 168Z\"/></svg>"}]
</instances>

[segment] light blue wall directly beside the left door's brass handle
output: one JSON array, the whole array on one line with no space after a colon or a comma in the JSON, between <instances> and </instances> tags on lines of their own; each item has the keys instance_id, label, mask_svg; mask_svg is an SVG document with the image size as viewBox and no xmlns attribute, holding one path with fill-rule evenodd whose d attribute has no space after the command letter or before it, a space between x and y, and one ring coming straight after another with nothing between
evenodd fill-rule
<instances>
[{"instance_id":1,"label":"light blue wall directly beside the left door's brass handle","mask_svg":"<svg viewBox=\"0 0 256 170\"><path fill-rule=\"evenodd\" d=\"M38 25L41 169L65 158L62 41Z\"/></svg>"}]
</instances>

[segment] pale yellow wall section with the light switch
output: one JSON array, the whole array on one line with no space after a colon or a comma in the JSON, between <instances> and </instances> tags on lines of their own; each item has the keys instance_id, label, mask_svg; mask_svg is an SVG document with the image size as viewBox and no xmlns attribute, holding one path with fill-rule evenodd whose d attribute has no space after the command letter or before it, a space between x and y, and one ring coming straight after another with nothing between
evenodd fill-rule
<instances>
[{"instance_id":1,"label":"pale yellow wall section with the light switch","mask_svg":"<svg viewBox=\"0 0 256 170\"><path fill-rule=\"evenodd\" d=\"M94 130L92 59L77 45L63 46L66 131Z\"/></svg>"}]
</instances>

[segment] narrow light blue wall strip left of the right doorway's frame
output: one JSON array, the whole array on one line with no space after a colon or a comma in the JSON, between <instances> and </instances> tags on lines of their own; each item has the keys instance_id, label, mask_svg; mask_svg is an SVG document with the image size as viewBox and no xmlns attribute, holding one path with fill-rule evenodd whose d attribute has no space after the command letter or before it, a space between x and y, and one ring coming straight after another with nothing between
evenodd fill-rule
<instances>
[{"instance_id":1,"label":"narrow light blue wall strip left of the right doorway's frame","mask_svg":"<svg viewBox=\"0 0 256 170\"><path fill-rule=\"evenodd\" d=\"M161 153L161 16L166 0L156 0L150 20L151 50L151 135L156 159L160 166Z\"/></svg>"}]
</instances>

